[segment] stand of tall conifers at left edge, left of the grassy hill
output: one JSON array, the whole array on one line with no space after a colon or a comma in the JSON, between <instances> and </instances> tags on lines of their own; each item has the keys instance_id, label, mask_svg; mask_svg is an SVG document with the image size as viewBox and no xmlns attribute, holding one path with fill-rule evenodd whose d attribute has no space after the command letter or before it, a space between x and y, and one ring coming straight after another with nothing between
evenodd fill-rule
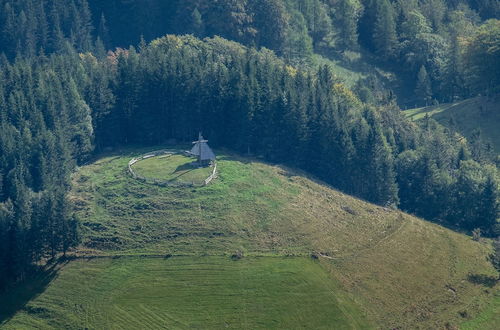
<instances>
[{"instance_id":1,"label":"stand of tall conifers at left edge, left of the grassy hill","mask_svg":"<svg viewBox=\"0 0 500 330\"><path fill-rule=\"evenodd\" d=\"M79 58L0 65L0 288L78 242L67 192L93 148Z\"/></svg>"}]
</instances>

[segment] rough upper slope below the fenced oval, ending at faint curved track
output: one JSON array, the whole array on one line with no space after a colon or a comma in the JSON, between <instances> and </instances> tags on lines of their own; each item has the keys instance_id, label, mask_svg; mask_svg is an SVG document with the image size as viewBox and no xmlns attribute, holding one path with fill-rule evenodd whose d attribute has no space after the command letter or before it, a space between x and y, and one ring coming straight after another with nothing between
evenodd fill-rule
<instances>
[{"instance_id":1,"label":"rough upper slope below the fenced oval, ending at faint curved track","mask_svg":"<svg viewBox=\"0 0 500 330\"><path fill-rule=\"evenodd\" d=\"M143 184L126 174L134 155L103 158L75 177L71 198L92 254L309 256L318 250L340 257L404 220L288 169L229 155L219 157L219 178L207 187Z\"/></svg>"}]
</instances>

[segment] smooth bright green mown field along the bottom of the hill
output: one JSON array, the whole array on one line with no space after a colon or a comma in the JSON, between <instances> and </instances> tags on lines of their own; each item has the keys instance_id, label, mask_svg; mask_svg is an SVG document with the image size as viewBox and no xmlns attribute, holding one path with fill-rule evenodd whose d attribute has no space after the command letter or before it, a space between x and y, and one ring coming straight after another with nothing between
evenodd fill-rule
<instances>
[{"instance_id":1,"label":"smooth bright green mown field along the bottom of the hill","mask_svg":"<svg viewBox=\"0 0 500 330\"><path fill-rule=\"evenodd\" d=\"M120 258L69 263L6 329L361 329L307 258Z\"/></svg>"}]
</instances>

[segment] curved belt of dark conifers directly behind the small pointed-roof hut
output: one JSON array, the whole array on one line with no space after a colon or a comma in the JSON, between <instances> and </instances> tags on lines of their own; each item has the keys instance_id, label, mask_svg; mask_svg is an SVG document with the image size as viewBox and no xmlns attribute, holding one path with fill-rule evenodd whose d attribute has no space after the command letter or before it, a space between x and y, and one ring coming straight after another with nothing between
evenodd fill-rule
<instances>
[{"instance_id":1,"label":"curved belt of dark conifers directly behind the small pointed-roof hut","mask_svg":"<svg viewBox=\"0 0 500 330\"><path fill-rule=\"evenodd\" d=\"M202 130L214 145L303 168L371 202L495 231L498 172L479 142L471 152L431 119L417 127L391 100L366 105L327 66L300 70L269 51L176 36L83 58L101 86L91 101L103 109L100 148L190 141Z\"/></svg>"}]
</instances>

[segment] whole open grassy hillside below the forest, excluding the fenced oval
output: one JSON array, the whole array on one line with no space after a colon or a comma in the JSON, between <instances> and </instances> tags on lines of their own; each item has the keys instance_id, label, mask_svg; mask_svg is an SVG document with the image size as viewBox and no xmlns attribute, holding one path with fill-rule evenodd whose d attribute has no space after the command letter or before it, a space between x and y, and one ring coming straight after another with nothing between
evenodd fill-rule
<instances>
[{"instance_id":1,"label":"whole open grassy hillside below the forest, excluding the fenced oval","mask_svg":"<svg viewBox=\"0 0 500 330\"><path fill-rule=\"evenodd\" d=\"M2 327L493 329L499 321L487 242L228 153L207 187L146 185L126 168L149 150L109 155L74 175L77 259L0 297L15 302L0 306Z\"/></svg>"}]
</instances>

